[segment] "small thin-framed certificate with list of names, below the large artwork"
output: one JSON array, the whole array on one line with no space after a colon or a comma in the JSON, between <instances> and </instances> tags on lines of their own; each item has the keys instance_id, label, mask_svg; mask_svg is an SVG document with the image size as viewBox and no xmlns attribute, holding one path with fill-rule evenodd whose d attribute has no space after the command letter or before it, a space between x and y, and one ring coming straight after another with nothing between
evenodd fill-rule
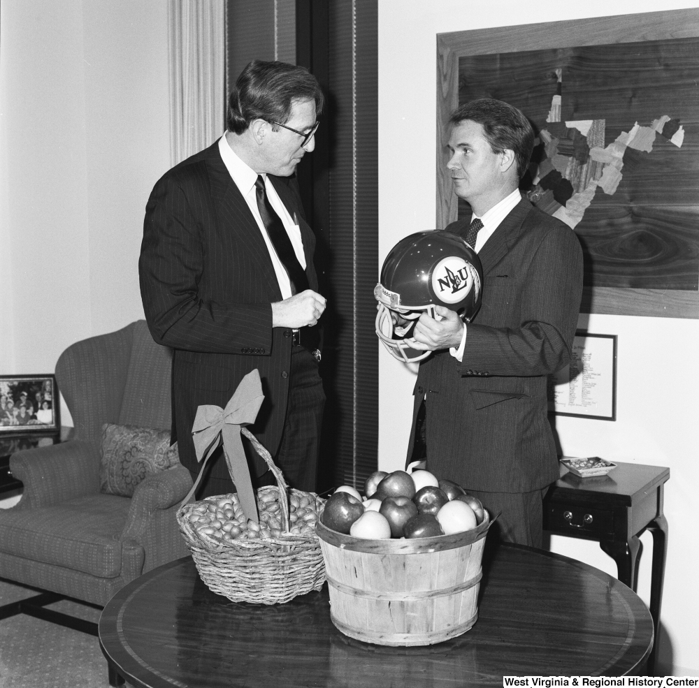
<instances>
[{"instance_id":1,"label":"small thin-framed certificate with list of names, below the large artwork","mask_svg":"<svg viewBox=\"0 0 699 688\"><path fill-rule=\"evenodd\" d=\"M617 420L617 335L578 330L570 364L549 375L549 413Z\"/></svg>"}]
</instances>

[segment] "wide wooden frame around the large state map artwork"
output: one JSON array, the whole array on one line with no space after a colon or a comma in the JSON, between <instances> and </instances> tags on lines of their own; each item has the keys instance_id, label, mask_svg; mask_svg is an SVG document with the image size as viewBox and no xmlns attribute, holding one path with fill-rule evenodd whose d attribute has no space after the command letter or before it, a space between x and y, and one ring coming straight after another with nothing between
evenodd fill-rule
<instances>
[{"instance_id":1,"label":"wide wooden frame around the large state map artwork","mask_svg":"<svg viewBox=\"0 0 699 688\"><path fill-rule=\"evenodd\" d=\"M444 143L449 136L449 115L459 105L461 57L696 37L699 37L699 9L438 34L436 226L443 228L458 217ZM699 291L586 286L581 312L699 319Z\"/></svg>"}]
</instances>

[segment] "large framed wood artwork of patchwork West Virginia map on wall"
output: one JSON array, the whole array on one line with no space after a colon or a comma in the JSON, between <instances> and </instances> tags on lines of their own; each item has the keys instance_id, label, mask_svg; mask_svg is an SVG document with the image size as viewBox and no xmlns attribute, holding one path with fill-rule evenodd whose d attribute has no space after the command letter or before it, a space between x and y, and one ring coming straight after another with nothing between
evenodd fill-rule
<instances>
[{"instance_id":1,"label":"large framed wood artwork of patchwork West Virginia map on wall","mask_svg":"<svg viewBox=\"0 0 699 688\"><path fill-rule=\"evenodd\" d=\"M699 9L438 34L437 226L450 113L497 98L533 124L521 192L585 258L581 312L699 318Z\"/></svg>"}]
</instances>

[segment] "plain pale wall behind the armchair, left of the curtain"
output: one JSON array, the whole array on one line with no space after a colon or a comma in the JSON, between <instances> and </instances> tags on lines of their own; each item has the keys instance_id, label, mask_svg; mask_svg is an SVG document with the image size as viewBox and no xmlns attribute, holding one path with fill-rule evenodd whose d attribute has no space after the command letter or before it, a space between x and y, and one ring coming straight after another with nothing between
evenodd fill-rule
<instances>
[{"instance_id":1,"label":"plain pale wall behind the armchair, left of the curtain","mask_svg":"<svg viewBox=\"0 0 699 688\"><path fill-rule=\"evenodd\" d=\"M46 373L143 318L143 212L170 166L167 3L0 12L0 374Z\"/></svg>"}]
</instances>

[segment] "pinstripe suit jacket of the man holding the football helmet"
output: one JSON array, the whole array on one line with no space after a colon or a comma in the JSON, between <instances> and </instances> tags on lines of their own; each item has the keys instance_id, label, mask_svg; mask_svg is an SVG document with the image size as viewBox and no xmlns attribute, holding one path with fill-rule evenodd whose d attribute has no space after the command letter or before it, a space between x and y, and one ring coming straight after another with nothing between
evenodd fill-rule
<instances>
[{"instance_id":1,"label":"pinstripe suit jacket of the man holding the football helmet","mask_svg":"<svg viewBox=\"0 0 699 688\"><path fill-rule=\"evenodd\" d=\"M465 236L468 221L447 230ZM582 250L568 226L523 198L479 257L483 300L463 362L440 351L421 363L408 456L426 395L431 471L473 490L529 492L559 476L547 374L570 360Z\"/></svg>"}]
</instances>

